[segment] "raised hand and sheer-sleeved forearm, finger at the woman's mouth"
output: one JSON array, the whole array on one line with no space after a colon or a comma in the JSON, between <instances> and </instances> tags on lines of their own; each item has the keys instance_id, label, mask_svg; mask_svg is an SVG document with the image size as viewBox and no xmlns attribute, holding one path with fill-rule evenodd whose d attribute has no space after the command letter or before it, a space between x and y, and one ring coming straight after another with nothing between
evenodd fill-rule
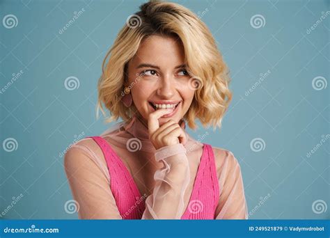
<instances>
[{"instance_id":1,"label":"raised hand and sheer-sleeved forearm, finger at the woman's mouth","mask_svg":"<svg viewBox=\"0 0 330 238\"><path fill-rule=\"evenodd\" d=\"M148 134L156 148L155 160L164 167L154 175L155 187L146 199L142 219L180 219L184 212L184 191L190 180L189 161L184 143L184 122L178 125L170 119L159 126L159 118L171 109L158 109L148 118ZM173 111L173 109L172 109Z\"/></svg>"}]
</instances>

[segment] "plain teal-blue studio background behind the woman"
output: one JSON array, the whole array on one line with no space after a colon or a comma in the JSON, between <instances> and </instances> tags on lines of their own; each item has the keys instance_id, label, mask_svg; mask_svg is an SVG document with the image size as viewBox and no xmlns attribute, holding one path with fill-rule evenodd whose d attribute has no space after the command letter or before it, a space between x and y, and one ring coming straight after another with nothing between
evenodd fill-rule
<instances>
[{"instance_id":1,"label":"plain teal-blue studio background behind the woman","mask_svg":"<svg viewBox=\"0 0 330 238\"><path fill-rule=\"evenodd\" d=\"M0 19L17 18L13 28L0 22L0 87L23 72L0 94L0 212L22 193L2 219L77 219L64 209L72 195L59 154L82 134L110 126L95 118L97 79L118 31L141 3L0 1ZM251 219L329 219L330 16L317 23L329 1L178 3L209 26L233 79L222 129L189 133L208 132L203 143L235 154ZM261 27L251 24L255 15L265 19ZM79 87L65 88L68 77L77 77ZM324 84L315 90L318 77ZM7 138L17 141L11 152ZM251 145L255 138L260 151Z\"/></svg>"}]
</instances>

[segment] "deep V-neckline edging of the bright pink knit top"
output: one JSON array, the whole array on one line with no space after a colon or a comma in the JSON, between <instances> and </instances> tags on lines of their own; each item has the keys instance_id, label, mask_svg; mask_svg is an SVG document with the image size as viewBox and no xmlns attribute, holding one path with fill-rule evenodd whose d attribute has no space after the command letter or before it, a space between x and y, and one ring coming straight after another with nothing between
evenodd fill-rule
<instances>
[{"instance_id":1,"label":"deep V-neckline edging of the bright pink knit top","mask_svg":"<svg viewBox=\"0 0 330 238\"><path fill-rule=\"evenodd\" d=\"M107 142L107 140L105 140L104 138L102 138L102 139ZM113 148L111 147L111 145L108 142L107 142L107 145L109 146L109 148L111 148L110 151L112 152L113 156L115 156L116 159L118 159L118 162L120 163L120 165L123 166L123 168L125 170L125 173L127 173L127 175L129 176L129 180L132 180L132 184L133 184L134 190L136 190L136 192L138 193L137 195L139 196L139 198L142 198L141 192L140 192L139 188L137 187L137 184L136 184L136 182L134 180L134 177L132 176L131 173L129 173L129 170L128 170L127 166L125 166L123 160L120 159L119 155L115 152L115 150L113 150ZM189 208L189 204L191 203L191 201L194 200L194 199L196 199L196 198L194 198L194 196L196 196L196 192L197 192L196 183L199 181L199 178L201 177L201 173L202 173L202 168L201 168L202 166L201 166L201 164L204 163L204 160L203 159L205 158L206 150L207 150L206 149L206 145L205 145L205 143L203 143L203 152L202 152L202 155L201 155L201 159L199 161L199 164L198 164L198 168L197 168L197 172L196 172L196 177L195 177L194 184L193 184L193 189L191 190L191 194L190 194L190 197L189 197L189 200L188 200L187 207L186 207L186 209L184 209L184 213L182 214L182 216L180 217L180 219L182 219L182 217L185 216L185 214L187 213L187 210Z\"/></svg>"}]
</instances>

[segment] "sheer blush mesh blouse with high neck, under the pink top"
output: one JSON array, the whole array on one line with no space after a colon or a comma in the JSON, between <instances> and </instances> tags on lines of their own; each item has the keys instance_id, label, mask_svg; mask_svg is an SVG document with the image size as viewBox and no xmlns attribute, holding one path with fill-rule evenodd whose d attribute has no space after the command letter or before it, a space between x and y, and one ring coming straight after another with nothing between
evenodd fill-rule
<instances>
[{"instance_id":1,"label":"sheer blush mesh blouse with high neck, under the pink top","mask_svg":"<svg viewBox=\"0 0 330 238\"><path fill-rule=\"evenodd\" d=\"M145 194L142 219L180 219L187 208L201 161L203 144L187 134L186 144L155 150L148 139L148 127L133 117L102 133L134 178L140 194ZM138 140L136 140L138 138ZM136 146L139 150L136 150ZM219 181L216 219L248 219L242 174L233 153L212 148ZM186 165L180 180L171 179L173 159ZM178 161L176 162L178 163ZM80 219L122 219L109 186L111 177L100 147L92 138L75 143L65 154L65 172ZM175 181L175 182L173 182ZM170 193L172 190L178 193Z\"/></svg>"}]
</instances>

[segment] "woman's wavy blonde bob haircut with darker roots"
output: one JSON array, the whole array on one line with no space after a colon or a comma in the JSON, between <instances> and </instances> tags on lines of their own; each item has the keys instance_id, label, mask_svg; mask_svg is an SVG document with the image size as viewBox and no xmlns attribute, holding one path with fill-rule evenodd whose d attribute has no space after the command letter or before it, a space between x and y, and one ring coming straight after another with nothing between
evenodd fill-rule
<instances>
[{"instance_id":1,"label":"woman's wavy blonde bob haircut with darker roots","mask_svg":"<svg viewBox=\"0 0 330 238\"><path fill-rule=\"evenodd\" d=\"M107 122L119 117L127 121L136 113L134 103L127 108L120 99L124 95L124 83L127 83L127 63L136 54L141 41L150 35L179 38L184 47L187 72L191 79L198 79L194 99L183 117L189 127L196 129L195 119L198 118L203 127L221 128L223 114L232 98L226 63L201 19L177 3L162 1L143 3L139 12L129 16L105 56L97 86L97 117L100 109L105 115L104 106L112 114L111 118L106 118Z\"/></svg>"}]
</instances>

